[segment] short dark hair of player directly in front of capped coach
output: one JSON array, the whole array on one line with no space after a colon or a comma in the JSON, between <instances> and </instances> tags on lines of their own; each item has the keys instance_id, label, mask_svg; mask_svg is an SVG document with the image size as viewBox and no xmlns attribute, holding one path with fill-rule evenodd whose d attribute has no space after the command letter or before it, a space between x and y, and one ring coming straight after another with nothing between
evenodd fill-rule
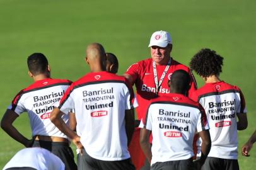
<instances>
[{"instance_id":1,"label":"short dark hair of player directly in front of capped coach","mask_svg":"<svg viewBox=\"0 0 256 170\"><path fill-rule=\"evenodd\" d=\"M175 93L187 93L190 87L189 73L183 70L173 72L170 78L170 85L172 86L172 91L175 91Z\"/></svg>"}]
</instances>

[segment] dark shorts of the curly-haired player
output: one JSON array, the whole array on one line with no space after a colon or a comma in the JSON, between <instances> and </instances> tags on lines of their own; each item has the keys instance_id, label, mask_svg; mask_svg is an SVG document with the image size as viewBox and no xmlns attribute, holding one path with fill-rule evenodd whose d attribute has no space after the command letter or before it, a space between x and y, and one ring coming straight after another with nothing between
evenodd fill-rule
<instances>
[{"instance_id":1,"label":"dark shorts of the curly-haired player","mask_svg":"<svg viewBox=\"0 0 256 170\"><path fill-rule=\"evenodd\" d=\"M239 170L237 159L222 159L218 157L207 157L202 170Z\"/></svg>"}]
</instances>

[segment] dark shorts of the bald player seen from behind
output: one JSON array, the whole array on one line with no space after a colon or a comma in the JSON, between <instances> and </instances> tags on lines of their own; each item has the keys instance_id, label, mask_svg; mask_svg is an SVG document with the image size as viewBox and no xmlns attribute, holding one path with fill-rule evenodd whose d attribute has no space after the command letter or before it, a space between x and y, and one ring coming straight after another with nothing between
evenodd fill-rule
<instances>
[{"instance_id":1,"label":"dark shorts of the bald player seen from behind","mask_svg":"<svg viewBox=\"0 0 256 170\"><path fill-rule=\"evenodd\" d=\"M131 158L122 161L102 161L89 156L83 149L83 155L78 154L78 169L86 170L135 170Z\"/></svg>"}]
</instances>

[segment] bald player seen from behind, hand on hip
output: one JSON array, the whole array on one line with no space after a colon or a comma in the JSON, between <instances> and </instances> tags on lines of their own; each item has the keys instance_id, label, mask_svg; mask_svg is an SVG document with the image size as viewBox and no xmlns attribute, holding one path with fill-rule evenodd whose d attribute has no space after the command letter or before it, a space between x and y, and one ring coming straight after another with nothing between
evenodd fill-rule
<instances>
[{"instance_id":1,"label":"bald player seen from behind, hand on hip","mask_svg":"<svg viewBox=\"0 0 256 170\"><path fill-rule=\"evenodd\" d=\"M50 120L82 150L78 169L134 169L127 150L134 130L132 88L123 76L106 71L99 43L87 47L85 60L91 72L71 84ZM70 109L81 136L61 119Z\"/></svg>"}]
</instances>

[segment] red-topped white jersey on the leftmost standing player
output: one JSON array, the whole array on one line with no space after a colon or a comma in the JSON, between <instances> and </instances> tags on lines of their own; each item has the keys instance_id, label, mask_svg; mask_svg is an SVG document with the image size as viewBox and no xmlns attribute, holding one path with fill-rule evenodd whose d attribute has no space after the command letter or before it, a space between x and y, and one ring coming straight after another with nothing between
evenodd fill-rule
<instances>
[{"instance_id":1,"label":"red-topped white jersey on the leftmost standing player","mask_svg":"<svg viewBox=\"0 0 256 170\"><path fill-rule=\"evenodd\" d=\"M50 113L54 107L59 106L59 101L70 86L71 81L62 79L43 79L34 82L18 93L13 99L9 110L18 115L28 113L32 136L44 135L67 138L59 128L50 121ZM63 115L62 119L68 123L69 116Z\"/></svg>"}]
</instances>

